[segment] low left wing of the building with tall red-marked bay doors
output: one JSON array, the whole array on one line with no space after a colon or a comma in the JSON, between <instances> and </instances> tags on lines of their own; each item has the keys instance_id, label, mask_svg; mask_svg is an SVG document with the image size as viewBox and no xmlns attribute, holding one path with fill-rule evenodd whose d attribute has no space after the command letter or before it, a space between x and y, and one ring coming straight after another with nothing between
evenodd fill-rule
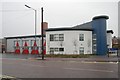
<instances>
[{"instance_id":1,"label":"low left wing of the building with tall red-marked bay doors","mask_svg":"<svg viewBox=\"0 0 120 80\"><path fill-rule=\"evenodd\" d=\"M36 46L35 45L36 40ZM44 39L45 40L45 39ZM15 50L19 48L19 53L22 54L24 48L28 50L28 54L31 54L33 50L38 50L37 54L41 53L41 35L30 36L16 36L5 37L5 45L7 53L15 53Z\"/></svg>"}]
</instances>

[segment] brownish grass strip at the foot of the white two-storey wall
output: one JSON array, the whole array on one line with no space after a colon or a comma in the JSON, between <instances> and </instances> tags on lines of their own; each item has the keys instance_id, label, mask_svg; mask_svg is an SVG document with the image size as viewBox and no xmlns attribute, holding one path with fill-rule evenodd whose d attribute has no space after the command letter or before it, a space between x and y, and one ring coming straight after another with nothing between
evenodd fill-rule
<instances>
[{"instance_id":1,"label":"brownish grass strip at the foot of the white two-storey wall","mask_svg":"<svg viewBox=\"0 0 120 80\"><path fill-rule=\"evenodd\" d=\"M88 58L92 56L91 54L79 54L79 55L73 55L73 54L47 54L45 57L50 58Z\"/></svg>"}]
</instances>

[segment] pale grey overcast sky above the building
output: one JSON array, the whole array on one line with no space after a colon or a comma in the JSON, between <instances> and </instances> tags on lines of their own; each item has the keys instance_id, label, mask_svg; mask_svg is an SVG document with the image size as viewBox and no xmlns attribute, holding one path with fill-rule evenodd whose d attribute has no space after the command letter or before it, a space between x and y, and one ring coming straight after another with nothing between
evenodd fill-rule
<instances>
[{"instance_id":1,"label":"pale grey overcast sky above the building","mask_svg":"<svg viewBox=\"0 0 120 80\"><path fill-rule=\"evenodd\" d=\"M37 10L37 34L43 7L49 28L72 27L107 15L107 29L118 36L118 0L4 0L0 3L0 37L34 35L34 11L25 4Z\"/></svg>"}]
</instances>

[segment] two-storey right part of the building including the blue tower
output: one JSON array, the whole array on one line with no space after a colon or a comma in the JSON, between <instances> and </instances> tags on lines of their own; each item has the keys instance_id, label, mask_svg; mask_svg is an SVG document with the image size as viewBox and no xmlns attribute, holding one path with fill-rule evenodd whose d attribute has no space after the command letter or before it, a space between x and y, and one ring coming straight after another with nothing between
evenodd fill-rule
<instances>
[{"instance_id":1,"label":"two-storey right part of the building including the blue tower","mask_svg":"<svg viewBox=\"0 0 120 80\"><path fill-rule=\"evenodd\" d=\"M105 55L112 48L112 30L106 30L107 16L94 17L91 22L70 28L46 30L46 54ZM103 50L103 51L101 51Z\"/></svg>"}]
</instances>

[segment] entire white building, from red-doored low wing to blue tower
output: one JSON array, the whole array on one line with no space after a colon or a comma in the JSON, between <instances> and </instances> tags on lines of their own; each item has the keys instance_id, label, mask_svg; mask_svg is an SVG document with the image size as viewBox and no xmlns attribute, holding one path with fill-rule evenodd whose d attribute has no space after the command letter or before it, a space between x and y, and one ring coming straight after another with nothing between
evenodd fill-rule
<instances>
[{"instance_id":1,"label":"entire white building, from red-doored low wing to blue tower","mask_svg":"<svg viewBox=\"0 0 120 80\"><path fill-rule=\"evenodd\" d=\"M46 30L46 54L98 54L106 55L112 48L112 30L106 30L107 16L97 16L91 22L69 28ZM17 36L5 38L6 52L41 53L41 36ZM19 45L18 45L19 44ZM27 45L27 46L26 46ZM45 48L44 48L45 50ZM38 53L38 54L39 54Z\"/></svg>"}]
</instances>

